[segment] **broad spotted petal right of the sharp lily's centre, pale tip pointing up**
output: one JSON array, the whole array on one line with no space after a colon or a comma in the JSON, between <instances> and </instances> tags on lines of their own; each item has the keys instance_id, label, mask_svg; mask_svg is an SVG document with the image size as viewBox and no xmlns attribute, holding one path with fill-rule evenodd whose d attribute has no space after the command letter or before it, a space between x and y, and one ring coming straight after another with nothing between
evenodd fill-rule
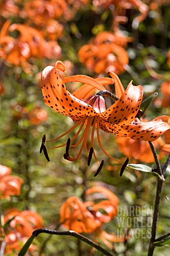
<instances>
[{"instance_id":1,"label":"broad spotted petal right of the sharp lily's centre, pale tip pointing up","mask_svg":"<svg viewBox=\"0 0 170 256\"><path fill-rule=\"evenodd\" d=\"M99 116L110 124L128 125L137 115L142 97L142 86L133 86L131 81L121 98Z\"/></svg>"}]
</instances>

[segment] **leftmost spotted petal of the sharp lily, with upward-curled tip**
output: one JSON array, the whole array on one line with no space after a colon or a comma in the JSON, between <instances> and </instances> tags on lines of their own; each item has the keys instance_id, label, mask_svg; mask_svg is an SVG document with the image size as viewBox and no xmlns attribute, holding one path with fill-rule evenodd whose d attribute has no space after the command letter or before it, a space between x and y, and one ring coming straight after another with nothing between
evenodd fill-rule
<instances>
[{"instance_id":1,"label":"leftmost spotted petal of the sharp lily, with upward-curled tip","mask_svg":"<svg viewBox=\"0 0 170 256\"><path fill-rule=\"evenodd\" d=\"M81 118L85 115L94 116L96 112L90 105L75 98L66 89L57 69L65 70L65 66L61 61L57 61L55 67L46 67L41 75L41 89L45 104L71 118Z\"/></svg>"}]
</instances>

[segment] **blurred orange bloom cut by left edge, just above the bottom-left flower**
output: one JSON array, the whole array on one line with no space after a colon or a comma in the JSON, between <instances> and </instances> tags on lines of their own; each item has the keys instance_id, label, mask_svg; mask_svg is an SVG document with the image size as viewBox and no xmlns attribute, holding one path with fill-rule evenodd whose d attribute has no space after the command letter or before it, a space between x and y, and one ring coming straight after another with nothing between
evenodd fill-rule
<instances>
[{"instance_id":1,"label":"blurred orange bloom cut by left edge, just above the bottom-left flower","mask_svg":"<svg viewBox=\"0 0 170 256\"><path fill-rule=\"evenodd\" d=\"M2 198L8 198L13 195L20 195L23 180L11 175L11 168L0 164L0 191Z\"/></svg>"}]
</instances>

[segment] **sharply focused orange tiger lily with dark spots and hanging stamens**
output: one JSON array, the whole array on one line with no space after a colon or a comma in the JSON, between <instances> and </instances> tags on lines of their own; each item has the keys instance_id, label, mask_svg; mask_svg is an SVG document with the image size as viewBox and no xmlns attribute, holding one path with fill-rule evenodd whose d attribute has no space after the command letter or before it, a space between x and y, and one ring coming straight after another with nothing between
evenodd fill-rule
<instances>
[{"instance_id":1,"label":"sharply focused orange tiger lily with dark spots and hanging stamens","mask_svg":"<svg viewBox=\"0 0 170 256\"><path fill-rule=\"evenodd\" d=\"M83 75L75 75L61 79L58 75L58 70L65 71L65 69L66 67L63 62L57 61L54 67L46 67L41 75L41 89L43 91L45 104L58 113L71 117L72 120L76 122L71 129L56 139L60 139L80 125L80 129L70 141L73 142L83 129L83 125L86 125L79 142L75 145L71 145L71 147L77 147L82 142L78 155L76 157L71 157L69 155L70 145L68 145L68 143L66 148L67 152L64 154L65 159L76 161L80 157L83 148L85 148L88 153L90 152L87 148L87 138L91 126L90 147L94 148L94 133L96 128L97 139L101 149L108 157L114 160L116 159L108 155L101 145L99 129L125 138L148 141L156 140L165 131L170 129L170 126L166 122L169 118L168 116L159 116L147 123L141 122L135 117L138 114L142 101L142 86L133 86L131 81L124 91L119 78L111 71L109 72L109 75L111 75L113 79L93 79ZM113 80L115 82L116 95L119 99L111 107L106 109L102 93L106 92L104 91L104 85L108 83L112 84ZM65 87L65 83L67 82L82 82L84 84L71 94ZM101 92L94 94L96 89ZM63 146L66 146L66 143L58 147ZM98 162L94 151L92 154Z\"/></svg>"}]
</instances>

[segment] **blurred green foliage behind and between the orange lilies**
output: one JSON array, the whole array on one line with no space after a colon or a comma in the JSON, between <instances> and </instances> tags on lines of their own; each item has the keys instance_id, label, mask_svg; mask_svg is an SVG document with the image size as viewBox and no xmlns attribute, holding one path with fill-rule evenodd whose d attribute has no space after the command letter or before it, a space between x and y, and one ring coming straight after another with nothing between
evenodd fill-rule
<instances>
[{"instance_id":1,"label":"blurred green foliage behind and between the orange lilies","mask_svg":"<svg viewBox=\"0 0 170 256\"><path fill-rule=\"evenodd\" d=\"M149 16L140 23L139 28L133 30L132 21L137 13L134 9L127 10L128 23L120 26L122 30L129 33L129 36L134 37L134 42L130 43L127 48L131 70L129 73L126 71L120 78L125 88L131 79L133 79L133 84L143 85L144 98L155 91L159 93L158 98L162 98L159 88L163 79L152 78L146 70L143 59L149 57L151 66L160 74L169 71L166 60L170 45L170 6L160 6L159 13L150 11ZM11 17L13 22L16 22L15 19ZM80 63L78 50L99 31L110 30L112 21L113 17L109 9L100 10L97 13L91 4L82 6L75 14L74 20L65 22L64 18L61 18L61 22L64 24L64 35L61 39L58 39L62 48L62 58L60 60L73 62L74 74L86 74L95 77L92 71L87 70ZM1 17L1 23L3 22L4 18ZM22 22L22 19L17 22ZM104 157L105 165L96 178L94 178L94 173L97 170L97 165L94 160L92 160L90 167L86 165L86 153L75 163L63 159L65 148L49 150L49 163L47 163L43 154L39 155L41 138L44 133L46 133L47 139L55 138L73 125L69 118L55 113L44 105L39 84L39 73L48 64L54 65L55 61L35 59L34 65L36 68L32 71L32 74L25 74L20 67L4 66L3 60L1 62L1 82L6 89L0 97L1 164L12 167L13 174L19 175L24 180L21 195L19 197L13 196L10 202L4 200L2 211L9 207L17 207L19 210L35 210L43 217L46 228L55 229L60 222L60 207L65 200L70 196L82 197L84 186L89 188L94 185L104 185L114 191L120 199L122 207L130 205L148 205L152 207L156 192L155 177L148 173L139 173L132 170L126 170L123 177L120 177L120 170L116 167L114 161L103 156L97 145L95 146L97 155L101 156L101 159ZM47 111L48 119L38 126L31 125L27 118L16 118L15 110L13 110L15 104L28 110L37 106L41 107ZM152 119L158 115L168 115L169 109L169 107L163 109L153 103L147 110L146 116L148 119ZM75 131L71 134L73 136ZM65 143L66 140L67 137L61 138L56 141L55 146ZM101 132L101 140L109 154L115 158L123 159L124 156L117 149L113 134ZM76 154L76 149L73 154ZM108 165L113 166L115 170L108 171ZM168 178L163 188L157 235L168 233L170 229L170 204L165 198L165 196L169 197L169 193ZM114 218L105 225L105 228L108 232L116 232L117 219ZM93 239L93 235L88 234L87 236ZM38 253L35 255L86 256L90 251L88 245L71 237L64 237L63 239L60 236L52 236L49 238L42 234L35 239L35 242L39 247ZM137 255L137 253L141 256L147 255L148 243L147 238L132 238L126 245L115 244L116 255L128 256ZM43 254L40 254L40 251ZM155 255L168 254L169 246L158 248L155 251ZM101 255L101 253L95 251L94 255Z\"/></svg>"}]
</instances>

